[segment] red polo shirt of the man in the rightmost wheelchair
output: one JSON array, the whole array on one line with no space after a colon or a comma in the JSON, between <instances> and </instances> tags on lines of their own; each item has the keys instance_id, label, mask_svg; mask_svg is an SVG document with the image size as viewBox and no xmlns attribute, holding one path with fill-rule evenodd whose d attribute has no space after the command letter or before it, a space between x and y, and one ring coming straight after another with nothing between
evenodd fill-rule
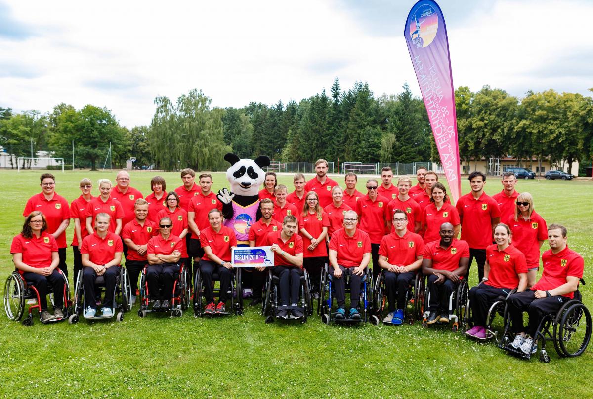
<instances>
[{"instance_id":1,"label":"red polo shirt of the man in the rightmost wheelchair","mask_svg":"<svg viewBox=\"0 0 593 399\"><path fill-rule=\"evenodd\" d=\"M531 287L531 291L549 291L566 283L566 277L573 276L582 278L585 262L581 255L570 249L568 246L559 253L552 253L549 249L541 255L544 263L544 272L540 281ZM575 293L562 295L566 298L574 298Z\"/></svg>"}]
</instances>

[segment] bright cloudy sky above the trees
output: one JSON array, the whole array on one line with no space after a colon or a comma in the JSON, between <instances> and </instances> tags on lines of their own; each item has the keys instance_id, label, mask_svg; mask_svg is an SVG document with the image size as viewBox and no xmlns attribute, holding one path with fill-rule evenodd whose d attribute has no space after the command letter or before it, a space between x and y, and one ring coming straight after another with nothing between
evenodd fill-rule
<instances>
[{"instance_id":1,"label":"bright cloudy sky above the trees","mask_svg":"<svg viewBox=\"0 0 593 399\"><path fill-rule=\"evenodd\" d=\"M455 87L591 95L593 1L441 0ZM157 95L202 89L212 105L287 102L366 81L408 82L414 1L0 0L0 107L106 106L149 124Z\"/></svg>"}]
</instances>

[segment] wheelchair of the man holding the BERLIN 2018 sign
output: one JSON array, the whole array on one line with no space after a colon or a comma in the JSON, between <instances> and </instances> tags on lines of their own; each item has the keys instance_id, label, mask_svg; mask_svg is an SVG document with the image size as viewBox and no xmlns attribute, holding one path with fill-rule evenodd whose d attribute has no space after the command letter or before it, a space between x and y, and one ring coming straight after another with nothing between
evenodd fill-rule
<instances>
[{"instance_id":1,"label":"wheelchair of the man holding the BERLIN 2018 sign","mask_svg":"<svg viewBox=\"0 0 593 399\"><path fill-rule=\"evenodd\" d=\"M262 301L262 314L266 317L266 323L273 323L278 317L278 312L288 310L286 320L300 320L301 323L307 321L307 317L313 314L313 297L311 297L311 280L307 270L302 269L301 275L301 295L299 295L298 306L280 306L280 278L273 275L272 268L268 268L266 275L266 284L264 285L264 298ZM291 314L291 310L300 310L304 315L300 319Z\"/></svg>"}]
</instances>

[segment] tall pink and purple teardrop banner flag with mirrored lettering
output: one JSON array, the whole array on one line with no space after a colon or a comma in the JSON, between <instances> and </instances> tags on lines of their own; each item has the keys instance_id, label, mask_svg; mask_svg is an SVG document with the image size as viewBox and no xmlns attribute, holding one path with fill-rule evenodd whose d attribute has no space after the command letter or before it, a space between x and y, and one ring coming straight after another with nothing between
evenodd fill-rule
<instances>
[{"instance_id":1,"label":"tall pink and purple teardrop banner flag with mirrored lettering","mask_svg":"<svg viewBox=\"0 0 593 399\"><path fill-rule=\"evenodd\" d=\"M420 0L412 7L404 27L404 37L428 112L432 134L435 136L441 165L449 182L449 194L457 202L461 194L461 180L455 92L447 28L441 8L436 2Z\"/></svg>"}]
</instances>

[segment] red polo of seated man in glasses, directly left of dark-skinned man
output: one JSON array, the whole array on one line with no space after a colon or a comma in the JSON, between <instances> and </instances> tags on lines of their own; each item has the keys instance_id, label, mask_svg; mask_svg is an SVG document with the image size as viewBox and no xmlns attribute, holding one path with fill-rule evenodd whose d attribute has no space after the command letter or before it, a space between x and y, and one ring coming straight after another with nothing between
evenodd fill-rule
<instances>
[{"instance_id":1,"label":"red polo of seated man in glasses, directly left of dark-skinned man","mask_svg":"<svg viewBox=\"0 0 593 399\"><path fill-rule=\"evenodd\" d=\"M407 266L416 262L424 252L424 241L419 234L406 231L403 236L391 233L383 237L379 255L385 256L391 265Z\"/></svg>"}]
</instances>

